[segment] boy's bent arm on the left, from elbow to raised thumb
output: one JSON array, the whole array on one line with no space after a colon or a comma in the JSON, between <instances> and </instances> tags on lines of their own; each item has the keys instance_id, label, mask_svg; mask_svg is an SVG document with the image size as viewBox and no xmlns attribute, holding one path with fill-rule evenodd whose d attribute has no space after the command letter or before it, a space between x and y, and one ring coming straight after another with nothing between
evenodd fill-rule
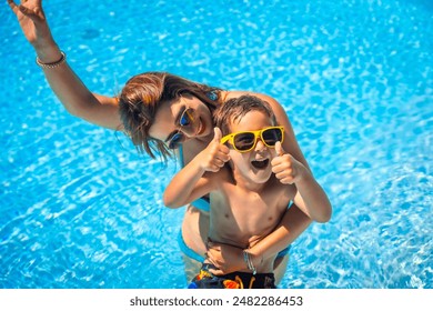
<instances>
[{"instance_id":1,"label":"boy's bent arm on the left, from elbow to raised thumb","mask_svg":"<svg viewBox=\"0 0 433 311\"><path fill-rule=\"evenodd\" d=\"M163 194L164 205L180 208L208 194L218 184L218 172L229 161L229 148L220 143L221 131L214 129L214 138L190 163L177 173Z\"/></svg>"}]
</instances>

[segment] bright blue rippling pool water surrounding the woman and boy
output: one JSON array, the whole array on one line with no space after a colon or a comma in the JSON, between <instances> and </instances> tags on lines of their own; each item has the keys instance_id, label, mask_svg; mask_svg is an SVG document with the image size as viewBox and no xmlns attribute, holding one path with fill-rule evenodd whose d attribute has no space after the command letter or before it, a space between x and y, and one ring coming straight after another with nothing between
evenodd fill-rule
<instances>
[{"instance_id":1,"label":"bright blue rippling pool water surrounding the woman and boy","mask_svg":"<svg viewBox=\"0 0 433 311\"><path fill-rule=\"evenodd\" d=\"M179 169L62 108L0 10L0 288L184 288ZM84 83L163 70L286 109L334 208L282 288L433 287L430 0L88 1L44 10Z\"/></svg>"}]
</instances>

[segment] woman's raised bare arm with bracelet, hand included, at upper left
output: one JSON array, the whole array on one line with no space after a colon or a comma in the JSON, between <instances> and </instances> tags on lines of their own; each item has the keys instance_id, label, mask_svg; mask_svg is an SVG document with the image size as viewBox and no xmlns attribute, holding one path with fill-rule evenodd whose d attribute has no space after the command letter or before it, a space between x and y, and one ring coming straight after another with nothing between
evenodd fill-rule
<instances>
[{"instance_id":1,"label":"woman's raised bare arm with bracelet, hand included, at upper left","mask_svg":"<svg viewBox=\"0 0 433 311\"><path fill-rule=\"evenodd\" d=\"M72 71L52 38L41 0L21 1L20 4L8 0L17 16L26 39L37 52L38 62L46 78L69 113L88 122L119 130L121 120L118 102L114 98L93 94Z\"/></svg>"}]
</instances>

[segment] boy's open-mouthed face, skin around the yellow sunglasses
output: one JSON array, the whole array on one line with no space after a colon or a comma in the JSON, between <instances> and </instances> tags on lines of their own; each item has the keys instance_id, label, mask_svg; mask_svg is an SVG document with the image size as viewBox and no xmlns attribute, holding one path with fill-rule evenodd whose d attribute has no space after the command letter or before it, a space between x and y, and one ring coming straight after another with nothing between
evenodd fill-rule
<instances>
[{"instance_id":1,"label":"boy's open-mouthed face, skin around the yellow sunglasses","mask_svg":"<svg viewBox=\"0 0 433 311\"><path fill-rule=\"evenodd\" d=\"M256 131L273 127L271 119L261 111L251 111L240 120L230 123L230 132ZM253 183L264 183L272 174L271 160L275 157L275 149L268 148L260 137L255 147L248 152L238 152L231 144L230 158L233 171L239 172L243 179Z\"/></svg>"}]
</instances>

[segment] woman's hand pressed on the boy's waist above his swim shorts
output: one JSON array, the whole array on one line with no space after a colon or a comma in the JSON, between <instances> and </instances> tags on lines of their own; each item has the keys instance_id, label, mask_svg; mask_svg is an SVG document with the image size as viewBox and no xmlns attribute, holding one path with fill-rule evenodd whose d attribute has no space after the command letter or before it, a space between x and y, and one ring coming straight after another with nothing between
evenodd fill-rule
<instances>
[{"instance_id":1,"label":"woman's hand pressed on the boy's waist above his swim shorts","mask_svg":"<svg viewBox=\"0 0 433 311\"><path fill-rule=\"evenodd\" d=\"M210 270L215 275L222 275L244 270L243 250L229 244L208 242L207 260L218 268Z\"/></svg>"}]
</instances>

